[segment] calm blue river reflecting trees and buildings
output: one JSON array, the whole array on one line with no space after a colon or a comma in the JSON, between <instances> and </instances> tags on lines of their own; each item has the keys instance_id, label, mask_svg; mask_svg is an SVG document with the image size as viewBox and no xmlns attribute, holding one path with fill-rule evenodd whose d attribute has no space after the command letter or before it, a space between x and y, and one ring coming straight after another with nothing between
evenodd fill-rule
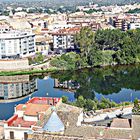
<instances>
[{"instance_id":1,"label":"calm blue river reflecting trees and buildings","mask_svg":"<svg viewBox=\"0 0 140 140\"><path fill-rule=\"evenodd\" d=\"M102 96L117 103L140 99L140 65L65 71L53 74L0 77L0 119L14 113L17 104L32 97L67 96L74 101L79 95L100 100Z\"/></svg>"}]
</instances>

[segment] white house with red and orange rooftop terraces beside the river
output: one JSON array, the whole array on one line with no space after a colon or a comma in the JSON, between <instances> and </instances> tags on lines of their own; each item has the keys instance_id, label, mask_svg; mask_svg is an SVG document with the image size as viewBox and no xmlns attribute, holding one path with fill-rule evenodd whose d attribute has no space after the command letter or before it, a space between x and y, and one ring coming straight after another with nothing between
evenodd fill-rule
<instances>
[{"instance_id":1,"label":"white house with red and orange rooftop terraces beside the river","mask_svg":"<svg viewBox=\"0 0 140 140\"><path fill-rule=\"evenodd\" d=\"M42 115L50 114L51 107L61 103L60 98L35 97L15 107L14 115L5 121L5 139L27 140L28 132L37 126Z\"/></svg>"}]
</instances>

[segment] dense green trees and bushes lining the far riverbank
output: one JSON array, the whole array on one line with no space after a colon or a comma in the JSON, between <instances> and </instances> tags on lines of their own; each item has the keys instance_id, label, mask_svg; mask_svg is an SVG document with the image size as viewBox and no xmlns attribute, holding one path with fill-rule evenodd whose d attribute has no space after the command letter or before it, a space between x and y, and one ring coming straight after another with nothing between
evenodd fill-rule
<instances>
[{"instance_id":1,"label":"dense green trees and bushes lining the far riverbank","mask_svg":"<svg viewBox=\"0 0 140 140\"><path fill-rule=\"evenodd\" d=\"M58 68L79 69L85 66L134 64L140 62L140 29L98 30L94 33L85 27L75 36L80 54L70 53L54 59Z\"/></svg>"}]
</instances>

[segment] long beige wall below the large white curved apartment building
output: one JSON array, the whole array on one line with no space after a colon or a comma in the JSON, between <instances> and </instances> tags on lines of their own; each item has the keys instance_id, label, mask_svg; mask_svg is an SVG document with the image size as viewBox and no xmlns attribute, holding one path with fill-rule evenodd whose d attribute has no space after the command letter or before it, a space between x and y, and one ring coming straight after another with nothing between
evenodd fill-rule
<instances>
[{"instance_id":1,"label":"long beige wall below the large white curved apartment building","mask_svg":"<svg viewBox=\"0 0 140 140\"><path fill-rule=\"evenodd\" d=\"M0 71L15 71L29 69L28 59L0 60Z\"/></svg>"}]
</instances>

